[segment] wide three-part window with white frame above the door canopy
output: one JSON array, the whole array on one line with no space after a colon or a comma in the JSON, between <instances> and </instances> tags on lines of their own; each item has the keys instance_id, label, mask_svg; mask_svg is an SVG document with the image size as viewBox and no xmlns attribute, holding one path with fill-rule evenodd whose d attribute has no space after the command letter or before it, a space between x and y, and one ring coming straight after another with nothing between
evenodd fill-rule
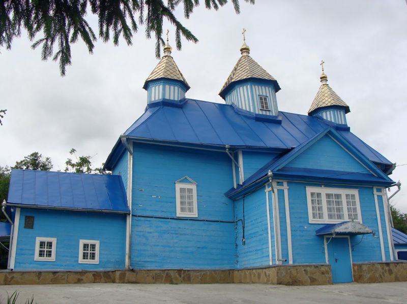
<instances>
[{"instance_id":1,"label":"wide three-part window with white frame above the door canopy","mask_svg":"<svg viewBox=\"0 0 407 304\"><path fill-rule=\"evenodd\" d=\"M362 222L356 189L306 187L310 223Z\"/></svg>"}]
</instances>

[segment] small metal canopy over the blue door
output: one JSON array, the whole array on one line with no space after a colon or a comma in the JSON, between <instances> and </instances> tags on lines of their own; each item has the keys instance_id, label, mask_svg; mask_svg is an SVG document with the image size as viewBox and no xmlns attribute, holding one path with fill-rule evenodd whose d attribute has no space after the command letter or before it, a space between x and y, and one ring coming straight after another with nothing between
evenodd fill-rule
<instances>
[{"instance_id":1,"label":"small metal canopy over the blue door","mask_svg":"<svg viewBox=\"0 0 407 304\"><path fill-rule=\"evenodd\" d=\"M372 229L355 221L328 224L315 230L316 235L357 235L370 233L374 234Z\"/></svg>"}]
</instances>

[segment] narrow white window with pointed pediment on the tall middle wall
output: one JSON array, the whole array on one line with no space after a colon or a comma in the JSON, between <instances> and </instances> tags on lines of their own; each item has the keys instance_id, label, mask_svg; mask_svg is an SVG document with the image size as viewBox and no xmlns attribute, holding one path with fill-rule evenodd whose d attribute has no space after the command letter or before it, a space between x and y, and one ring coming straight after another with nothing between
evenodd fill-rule
<instances>
[{"instance_id":1,"label":"narrow white window with pointed pediment on the tall middle wall","mask_svg":"<svg viewBox=\"0 0 407 304\"><path fill-rule=\"evenodd\" d=\"M196 183L184 177L175 183L177 216L198 217Z\"/></svg>"}]
</instances>

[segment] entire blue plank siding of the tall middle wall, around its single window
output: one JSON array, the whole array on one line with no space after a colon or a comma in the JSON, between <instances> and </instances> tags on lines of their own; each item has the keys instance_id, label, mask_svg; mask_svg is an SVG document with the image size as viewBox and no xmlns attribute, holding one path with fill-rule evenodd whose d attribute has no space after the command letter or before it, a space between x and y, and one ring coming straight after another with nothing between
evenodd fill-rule
<instances>
[{"instance_id":1,"label":"entire blue plank siding of the tall middle wall, around its single window","mask_svg":"<svg viewBox=\"0 0 407 304\"><path fill-rule=\"evenodd\" d=\"M233 185L226 153L133 145L133 214L176 218L175 182L197 183L198 218L233 221ZM131 264L135 268L230 268L234 223L134 217Z\"/></svg>"}]
</instances>

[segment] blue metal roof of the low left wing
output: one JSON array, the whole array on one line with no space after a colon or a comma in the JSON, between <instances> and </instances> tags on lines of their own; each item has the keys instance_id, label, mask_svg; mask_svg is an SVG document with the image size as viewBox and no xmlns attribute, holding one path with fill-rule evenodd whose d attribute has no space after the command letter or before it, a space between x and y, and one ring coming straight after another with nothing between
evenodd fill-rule
<instances>
[{"instance_id":1,"label":"blue metal roof of the low left wing","mask_svg":"<svg viewBox=\"0 0 407 304\"><path fill-rule=\"evenodd\" d=\"M13 169L8 204L29 208L130 212L119 175Z\"/></svg>"}]
</instances>

